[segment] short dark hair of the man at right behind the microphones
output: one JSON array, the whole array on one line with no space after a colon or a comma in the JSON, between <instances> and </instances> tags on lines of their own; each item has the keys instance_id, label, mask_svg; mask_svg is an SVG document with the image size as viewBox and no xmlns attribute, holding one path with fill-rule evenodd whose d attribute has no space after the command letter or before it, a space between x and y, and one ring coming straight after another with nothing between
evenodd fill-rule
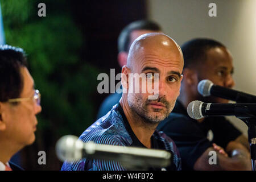
<instances>
[{"instance_id":1,"label":"short dark hair of the man at right behind the microphones","mask_svg":"<svg viewBox=\"0 0 256 182\"><path fill-rule=\"evenodd\" d=\"M197 38L185 42L181 46L184 57L184 68L195 68L207 60L207 51L211 48L224 47L213 39Z\"/></svg>"}]
</instances>

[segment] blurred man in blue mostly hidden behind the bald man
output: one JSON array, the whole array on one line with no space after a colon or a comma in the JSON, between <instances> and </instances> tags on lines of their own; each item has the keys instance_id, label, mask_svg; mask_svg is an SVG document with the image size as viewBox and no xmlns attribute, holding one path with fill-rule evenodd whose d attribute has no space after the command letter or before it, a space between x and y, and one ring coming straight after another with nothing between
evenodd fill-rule
<instances>
[{"instance_id":1,"label":"blurred man in blue mostly hidden behind the bald man","mask_svg":"<svg viewBox=\"0 0 256 182\"><path fill-rule=\"evenodd\" d=\"M128 52L134 40L143 34L151 32L161 32L161 28L157 23L150 20L138 20L128 24L125 28L123 28L121 34L118 37L117 56L117 60L121 68L127 63ZM122 93L114 93L105 98L100 106L97 118L101 118L106 113L108 113L108 111L110 111L112 107L119 102L121 96Z\"/></svg>"}]
</instances>

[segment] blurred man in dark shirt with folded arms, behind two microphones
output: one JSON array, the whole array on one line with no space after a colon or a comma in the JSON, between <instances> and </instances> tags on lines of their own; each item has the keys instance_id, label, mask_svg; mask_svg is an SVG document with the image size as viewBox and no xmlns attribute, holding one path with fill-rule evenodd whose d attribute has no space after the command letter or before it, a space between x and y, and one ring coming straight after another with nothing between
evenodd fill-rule
<instances>
[{"instance_id":1,"label":"blurred man in dark shirt with folded arms, behind two microphones","mask_svg":"<svg viewBox=\"0 0 256 182\"><path fill-rule=\"evenodd\" d=\"M193 39L181 46L184 55L180 96L172 113L160 123L159 130L174 139L184 170L250 170L249 143L225 117L207 117L196 121L187 114L191 101L227 103L218 97L203 97L197 84L204 79L214 84L234 86L233 59L228 49L212 39ZM216 152L216 164L209 163L210 151Z\"/></svg>"}]
</instances>

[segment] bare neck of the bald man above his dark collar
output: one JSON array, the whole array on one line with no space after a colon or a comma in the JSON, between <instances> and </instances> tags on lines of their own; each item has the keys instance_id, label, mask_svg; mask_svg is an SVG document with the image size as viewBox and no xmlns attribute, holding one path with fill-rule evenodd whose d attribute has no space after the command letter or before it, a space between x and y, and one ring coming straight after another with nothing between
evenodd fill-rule
<instances>
[{"instance_id":1,"label":"bare neck of the bald man above his dark collar","mask_svg":"<svg viewBox=\"0 0 256 182\"><path fill-rule=\"evenodd\" d=\"M127 103L127 100L123 97L120 100L120 105L123 109L123 113L125 113L129 125L131 126L131 129L133 130L133 133L144 146L151 148L151 136L158 125L150 125L144 122L137 113L133 113Z\"/></svg>"}]
</instances>

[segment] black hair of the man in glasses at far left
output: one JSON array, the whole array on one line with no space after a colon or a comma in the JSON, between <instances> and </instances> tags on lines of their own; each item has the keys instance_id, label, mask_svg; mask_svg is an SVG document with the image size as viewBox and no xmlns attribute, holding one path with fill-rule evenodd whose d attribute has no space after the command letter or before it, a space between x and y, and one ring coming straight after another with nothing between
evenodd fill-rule
<instances>
[{"instance_id":1,"label":"black hair of the man in glasses at far left","mask_svg":"<svg viewBox=\"0 0 256 182\"><path fill-rule=\"evenodd\" d=\"M22 48L0 46L0 102L18 98L23 89L21 67L27 67L26 55Z\"/></svg>"}]
</instances>

